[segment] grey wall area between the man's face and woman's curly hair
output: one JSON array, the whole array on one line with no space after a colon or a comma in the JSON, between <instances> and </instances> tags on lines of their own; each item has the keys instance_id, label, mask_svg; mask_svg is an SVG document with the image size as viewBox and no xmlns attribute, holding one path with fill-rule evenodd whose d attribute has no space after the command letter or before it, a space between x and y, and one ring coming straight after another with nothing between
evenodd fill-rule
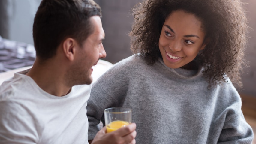
<instances>
[{"instance_id":1,"label":"grey wall area between the man's face and woman's curly hair","mask_svg":"<svg viewBox=\"0 0 256 144\"><path fill-rule=\"evenodd\" d=\"M102 26L105 32L105 60L116 63L132 55L130 38L133 16L131 7L142 0L95 0L102 9Z\"/></svg>"}]
</instances>

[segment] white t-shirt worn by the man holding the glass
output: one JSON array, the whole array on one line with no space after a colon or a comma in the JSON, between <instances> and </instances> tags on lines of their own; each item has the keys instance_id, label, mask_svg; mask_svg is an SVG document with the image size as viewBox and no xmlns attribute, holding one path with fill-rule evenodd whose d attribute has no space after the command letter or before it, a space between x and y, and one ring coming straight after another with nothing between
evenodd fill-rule
<instances>
[{"instance_id":1,"label":"white t-shirt worn by the man holding the glass","mask_svg":"<svg viewBox=\"0 0 256 144\"><path fill-rule=\"evenodd\" d=\"M87 144L91 85L57 97L21 73L0 86L0 143Z\"/></svg>"}]
</instances>

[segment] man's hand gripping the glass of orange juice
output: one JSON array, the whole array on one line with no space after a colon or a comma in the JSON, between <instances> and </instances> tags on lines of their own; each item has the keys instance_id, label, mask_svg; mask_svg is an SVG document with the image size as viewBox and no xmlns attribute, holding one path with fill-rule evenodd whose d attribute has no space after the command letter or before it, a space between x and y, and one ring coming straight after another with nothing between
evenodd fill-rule
<instances>
[{"instance_id":1,"label":"man's hand gripping the glass of orange juice","mask_svg":"<svg viewBox=\"0 0 256 144\"><path fill-rule=\"evenodd\" d=\"M116 131L106 133L106 126L95 136L91 144L135 144L136 124L132 123Z\"/></svg>"}]
</instances>

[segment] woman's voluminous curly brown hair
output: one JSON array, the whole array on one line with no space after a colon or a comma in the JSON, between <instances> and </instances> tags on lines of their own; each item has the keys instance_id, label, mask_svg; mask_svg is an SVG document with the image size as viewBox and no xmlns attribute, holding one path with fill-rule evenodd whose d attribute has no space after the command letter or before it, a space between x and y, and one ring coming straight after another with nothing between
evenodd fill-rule
<instances>
[{"instance_id":1,"label":"woman's voluminous curly brown hair","mask_svg":"<svg viewBox=\"0 0 256 144\"><path fill-rule=\"evenodd\" d=\"M145 0L137 4L130 32L133 54L139 53L149 64L155 63L161 57L158 41L164 21L179 9L201 21L205 40L209 40L196 57L206 67L204 76L209 86L226 81L227 75L237 88L242 88L248 21L239 0Z\"/></svg>"}]
</instances>

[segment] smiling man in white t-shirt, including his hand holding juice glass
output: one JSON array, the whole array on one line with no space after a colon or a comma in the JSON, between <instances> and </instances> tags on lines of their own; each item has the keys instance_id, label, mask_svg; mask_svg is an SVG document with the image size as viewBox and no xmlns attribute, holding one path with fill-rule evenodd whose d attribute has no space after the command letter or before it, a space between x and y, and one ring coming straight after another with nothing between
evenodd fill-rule
<instances>
[{"instance_id":1,"label":"smiling man in white t-shirt, including his hand holding juice glass","mask_svg":"<svg viewBox=\"0 0 256 144\"><path fill-rule=\"evenodd\" d=\"M0 87L0 143L88 143L92 66L106 57L101 9L92 0L42 0L35 15L36 60ZM92 143L135 143L136 125Z\"/></svg>"}]
</instances>

